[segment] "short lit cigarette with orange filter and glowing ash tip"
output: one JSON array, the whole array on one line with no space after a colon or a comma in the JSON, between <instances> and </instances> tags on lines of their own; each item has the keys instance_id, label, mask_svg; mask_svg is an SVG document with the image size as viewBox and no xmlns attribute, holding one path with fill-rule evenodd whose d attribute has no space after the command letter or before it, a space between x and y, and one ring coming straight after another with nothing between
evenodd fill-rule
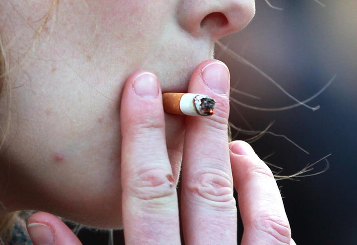
<instances>
[{"instance_id":1,"label":"short lit cigarette with orange filter and glowing ash tip","mask_svg":"<svg viewBox=\"0 0 357 245\"><path fill-rule=\"evenodd\" d=\"M187 116L211 116L216 101L204 94L163 93L164 111Z\"/></svg>"}]
</instances>

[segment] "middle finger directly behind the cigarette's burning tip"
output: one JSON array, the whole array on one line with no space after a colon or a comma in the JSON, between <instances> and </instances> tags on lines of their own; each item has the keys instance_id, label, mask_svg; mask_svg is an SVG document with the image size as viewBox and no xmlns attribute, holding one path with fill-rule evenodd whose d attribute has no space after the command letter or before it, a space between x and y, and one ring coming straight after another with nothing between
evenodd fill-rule
<instances>
[{"instance_id":1,"label":"middle finger directly behind the cigarette's burning tip","mask_svg":"<svg viewBox=\"0 0 357 245\"><path fill-rule=\"evenodd\" d=\"M237 243L237 208L228 147L229 80L221 61L204 61L189 93L214 98L211 117L187 117L182 162L181 210L187 244Z\"/></svg>"}]
</instances>

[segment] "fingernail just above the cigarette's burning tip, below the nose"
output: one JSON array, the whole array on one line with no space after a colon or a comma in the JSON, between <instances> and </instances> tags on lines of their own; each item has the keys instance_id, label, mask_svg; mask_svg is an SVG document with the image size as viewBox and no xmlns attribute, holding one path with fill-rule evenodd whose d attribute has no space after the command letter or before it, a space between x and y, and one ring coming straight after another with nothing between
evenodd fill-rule
<instances>
[{"instance_id":1,"label":"fingernail just above the cigarette's burning tip, below the nose","mask_svg":"<svg viewBox=\"0 0 357 245\"><path fill-rule=\"evenodd\" d=\"M221 95L228 94L230 73L223 62L212 62L203 67L202 79L212 91Z\"/></svg>"}]
</instances>

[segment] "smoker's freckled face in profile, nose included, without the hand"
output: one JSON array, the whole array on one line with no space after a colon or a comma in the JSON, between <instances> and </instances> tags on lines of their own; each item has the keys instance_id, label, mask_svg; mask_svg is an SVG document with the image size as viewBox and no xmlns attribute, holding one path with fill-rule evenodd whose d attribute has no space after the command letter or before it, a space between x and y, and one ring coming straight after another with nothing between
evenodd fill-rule
<instances>
[{"instance_id":1,"label":"smoker's freckled face in profile, nose included, without the hand","mask_svg":"<svg viewBox=\"0 0 357 245\"><path fill-rule=\"evenodd\" d=\"M214 42L243 28L253 0L5 0L0 34L0 201L101 228L121 226L120 94L139 69L185 92ZM11 100L11 101L10 101ZM10 101L10 102L9 102ZM175 178L183 117L166 115Z\"/></svg>"}]
</instances>

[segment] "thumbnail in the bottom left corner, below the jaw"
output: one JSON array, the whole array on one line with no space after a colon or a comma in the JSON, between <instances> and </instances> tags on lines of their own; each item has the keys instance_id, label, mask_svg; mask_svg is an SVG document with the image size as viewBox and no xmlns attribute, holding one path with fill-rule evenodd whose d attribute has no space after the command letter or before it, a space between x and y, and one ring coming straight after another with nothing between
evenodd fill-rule
<instances>
[{"instance_id":1,"label":"thumbnail in the bottom left corner, below the jaw","mask_svg":"<svg viewBox=\"0 0 357 245\"><path fill-rule=\"evenodd\" d=\"M31 223L27 225L27 231L31 241L35 245L54 245L55 236L50 227L40 223Z\"/></svg>"}]
</instances>

